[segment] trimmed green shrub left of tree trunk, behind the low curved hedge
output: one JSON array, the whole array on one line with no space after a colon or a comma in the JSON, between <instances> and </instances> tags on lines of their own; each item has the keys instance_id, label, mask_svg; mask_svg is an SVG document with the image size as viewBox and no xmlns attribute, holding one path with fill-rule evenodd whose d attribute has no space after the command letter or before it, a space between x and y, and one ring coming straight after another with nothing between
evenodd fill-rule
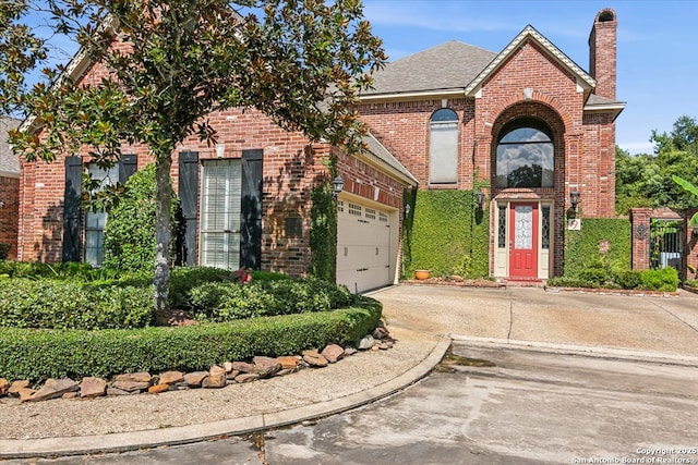
<instances>
[{"instance_id":1,"label":"trimmed green shrub left of tree trunk, behind the low curved hedge","mask_svg":"<svg viewBox=\"0 0 698 465\"><path fill-rule=\"evenodd\" d=\"M0 280L0 327L44 329L142 328L153 321L153 291L84 286L76 281Z\"/></svg>"}]
</instances>

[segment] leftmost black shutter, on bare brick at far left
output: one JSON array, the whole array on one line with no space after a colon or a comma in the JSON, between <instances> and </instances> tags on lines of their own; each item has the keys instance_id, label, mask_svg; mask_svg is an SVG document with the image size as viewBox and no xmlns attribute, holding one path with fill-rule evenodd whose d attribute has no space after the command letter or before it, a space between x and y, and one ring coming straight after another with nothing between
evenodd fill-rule
<instances>
[{"instance_id":1,"label":"leftmost black shutter, on bare brick at far left","mask_svg":"<svg viewBox=\"0 0 698 465\"><path fill-rule=\"evenodd\" d=\"M83 159L65 158L63 194L63 261L80 261L80 193Z\"/></svg>"}]
</instances>

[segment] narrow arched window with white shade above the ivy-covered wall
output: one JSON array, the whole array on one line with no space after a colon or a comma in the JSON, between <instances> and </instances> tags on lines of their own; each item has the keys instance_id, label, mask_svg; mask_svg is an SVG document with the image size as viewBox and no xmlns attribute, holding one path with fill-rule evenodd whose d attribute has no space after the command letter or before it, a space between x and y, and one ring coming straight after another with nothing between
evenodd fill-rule
<instances>
[{"instance_id":1,"label":"narrow arched window with white shade above the ivy-covered wall","mask_svg":"<svg viewBox=\"0 0 698 465\"><path fill-rule=\"evenodd\" d=\"M458 182L458 115L447 108L436 110L430 124L429 183Z\"/></svg>"}]
</instances>

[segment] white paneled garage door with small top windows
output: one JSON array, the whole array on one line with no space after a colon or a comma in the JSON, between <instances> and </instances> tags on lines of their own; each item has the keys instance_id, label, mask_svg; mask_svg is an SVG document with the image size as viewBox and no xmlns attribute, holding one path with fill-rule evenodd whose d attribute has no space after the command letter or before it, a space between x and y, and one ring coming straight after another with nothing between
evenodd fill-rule
<instances>
[{"instance_id":1,"label":"white paneled garage door with small top windows","mask_svg":"<svg viewBox=\"0 0 698 465\"><path fill-rule=\"evenodd\" d=\"M337 282L351 292L392 284L388 211L350 200L337 208Z\"/></svg>"}]
</instances>

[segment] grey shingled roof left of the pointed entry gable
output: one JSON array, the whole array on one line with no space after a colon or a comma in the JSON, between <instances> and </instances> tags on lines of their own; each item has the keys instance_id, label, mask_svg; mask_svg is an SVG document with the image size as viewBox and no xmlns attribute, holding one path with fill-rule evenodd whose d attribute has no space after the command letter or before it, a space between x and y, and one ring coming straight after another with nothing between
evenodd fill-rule
<instances>
[{"instance_id":1,"label":"grey shingled roof left of the pointed entry gable","mask_svg":"<svg viewBox=\"0 0 698 465\"><path fill-rule=\"evenodd\" d=\"M464 89L497 53L450 40L410 54L374 73L362 96Z\"/></svg>"}]
</instances>

